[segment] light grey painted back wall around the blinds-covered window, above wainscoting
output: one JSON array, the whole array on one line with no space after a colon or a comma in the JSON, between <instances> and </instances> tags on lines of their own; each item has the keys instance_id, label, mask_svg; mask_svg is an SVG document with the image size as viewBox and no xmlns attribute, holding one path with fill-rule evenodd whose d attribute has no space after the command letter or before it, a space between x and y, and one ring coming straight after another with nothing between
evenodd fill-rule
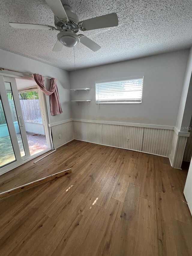
<instances>
[{"instance_id":1,"label":"light grey painted back wall around the blinds-covered window, above wainscoting","mask_svg":"<svg viewBox=\"0 0 192 256\"><path fill-rule=\"evenodd\" d=\"M76 119L116 121L175 126L189 50L134 59L70 72L70 87L91 88L71 92L72 117ZM95 81L144 76L141 104L95 103Z\"/></svg>"}]
</instances>

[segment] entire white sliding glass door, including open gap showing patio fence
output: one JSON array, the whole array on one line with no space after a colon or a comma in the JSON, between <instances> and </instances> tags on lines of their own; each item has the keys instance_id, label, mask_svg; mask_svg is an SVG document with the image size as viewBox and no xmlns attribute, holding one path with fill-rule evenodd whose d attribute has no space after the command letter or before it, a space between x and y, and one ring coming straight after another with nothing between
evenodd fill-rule
<instances>
[{"instance_id":1,"label":"entire white sliding glass door, including open gap showing patio fence","mask_svg":"<svg viewBox=\"0 0 192 256\"><path fill-rule=\"evenodd\" d=\"M34 80L0 75L0 175L51 149L44 97Z\"/></svg>"}]
</instances>

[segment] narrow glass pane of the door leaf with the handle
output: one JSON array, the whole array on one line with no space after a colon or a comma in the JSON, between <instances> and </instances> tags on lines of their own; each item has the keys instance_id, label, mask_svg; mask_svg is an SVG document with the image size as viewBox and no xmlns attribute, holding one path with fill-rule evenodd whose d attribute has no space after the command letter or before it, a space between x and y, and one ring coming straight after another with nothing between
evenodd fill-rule
<instances>
[{"instance_id":1,"label":"narrow glass pane of the door leaf with the handle","mask_svg":"<svg viewBox=\"0 0 192 256\"><path fill-rule=\"evenodd\" d=\"M23 140L22 140L22 136L21 136L21 131L20 131L20 126L22 126L22 119L21 116L17 116L16 113L16 109L15 109L15 103L14 103L14 98L13 98L13 93L12 93L12 89L11 89L11 84L8 82L5 82L5 89L7 92L7 98L9 101L9 106L10 106L10 110L11 110L11 116L13 119L13 123L14 123L14 128L16 131L16 136L17 136L17 140L19 143L19 149L20 149L20 153L21 156L25 156L25 150L24 150L24 146L23 146ZM19 119L19 120L18 120Z\"/></svg>"}]
</instances>

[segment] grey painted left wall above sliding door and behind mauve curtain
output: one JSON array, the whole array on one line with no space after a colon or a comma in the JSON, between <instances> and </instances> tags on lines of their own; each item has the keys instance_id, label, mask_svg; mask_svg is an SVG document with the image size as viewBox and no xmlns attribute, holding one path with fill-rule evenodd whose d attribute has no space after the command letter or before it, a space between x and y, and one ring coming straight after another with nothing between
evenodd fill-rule
<instances>
[{"instance_id":1,"label":"grey painted left wall above sliding door and behind mauve curtain","mask_svg":"<svg viewBox=\"0 0 192 256\"><path fill-rule=\"evenodd\" d=\"M67 71L1 49L0 67L31 74L38 73L43 75L44 77L55 77L57 79L58 93L63 113L57 116L51 116L49 107L48 111L50 123L70 119L70 83L69 73ZM9 73L9 71L5 72ZM1 74L3 73L1 72ZM45 82L46 89L49 89L50 80L45 79Z\"/></svg>"}]
</instances>

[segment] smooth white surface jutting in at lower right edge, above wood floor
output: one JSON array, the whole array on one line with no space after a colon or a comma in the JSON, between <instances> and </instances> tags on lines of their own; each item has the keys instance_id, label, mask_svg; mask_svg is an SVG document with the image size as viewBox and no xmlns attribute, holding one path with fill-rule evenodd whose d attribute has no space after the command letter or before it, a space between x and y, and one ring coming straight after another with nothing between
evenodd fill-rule
<instances>
[{"instance_id":1,"label":"smooth white surface jutting in at lower right edge, above wood floor","mask_svg":"<svg viewBox=\"0 0 192 256\"><path fill-rule=\"evenodd\" d=\"M190 162L187 179L184 187L184 196L192 215L192 162Z\"/></svg>"}]
</instances>

